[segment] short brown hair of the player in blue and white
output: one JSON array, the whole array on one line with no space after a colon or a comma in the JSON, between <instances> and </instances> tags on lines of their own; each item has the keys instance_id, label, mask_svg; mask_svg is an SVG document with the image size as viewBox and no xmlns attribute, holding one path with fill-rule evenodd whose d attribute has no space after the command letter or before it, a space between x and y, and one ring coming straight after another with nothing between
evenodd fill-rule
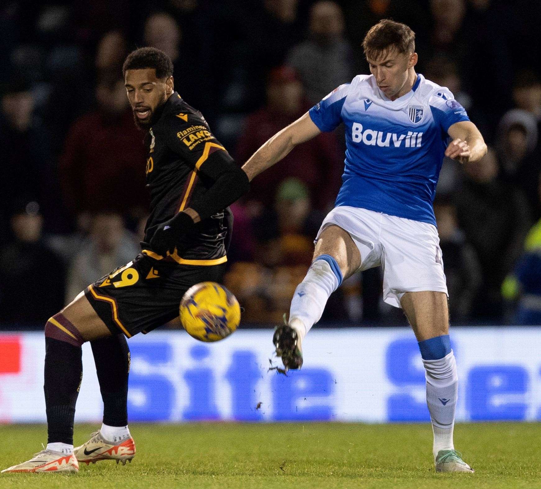
<instances>
[{"instance_id":1,"label":"short brown hair of the player in blue and white","mask_svg":"<svg viewBox=\"0 0 541 489\"><path fill-rule=\"evenodd\" d=\"M406 24L383 19L366 33L362 48L365 56L377 60L385 51L397 50L402 54L415 51L415 32Z\"/></svg>"}]
</instances>

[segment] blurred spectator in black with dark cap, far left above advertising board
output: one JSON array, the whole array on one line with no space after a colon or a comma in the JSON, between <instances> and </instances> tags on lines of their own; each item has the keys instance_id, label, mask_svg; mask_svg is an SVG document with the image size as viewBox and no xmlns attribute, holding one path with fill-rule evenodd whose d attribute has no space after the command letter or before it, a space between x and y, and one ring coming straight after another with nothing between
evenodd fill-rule
<instances>
[{"instance_id":1,"label":"blurred spectator in black with dark cap, far left above advertising board","mask_svg":"<svg viewBox=\"0 0 541 489\"><path fill-rule=\"evenodd\" d=\"M21 202L10 224L14 239L0 248L0 323L43 327L63 306L64 265L42 240L37 202Z\"/></svg>"}]
</instances>

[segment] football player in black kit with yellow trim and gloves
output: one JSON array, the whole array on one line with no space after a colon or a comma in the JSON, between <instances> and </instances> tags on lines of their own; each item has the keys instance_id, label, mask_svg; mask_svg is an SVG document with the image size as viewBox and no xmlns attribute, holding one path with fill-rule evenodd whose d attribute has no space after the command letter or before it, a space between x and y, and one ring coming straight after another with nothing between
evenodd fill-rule
<instances>
[{"instance_id":1,"label":"football player in black kit with yellow trim and gloves","mask_svg":"<svg viewBox=\"0 0 541 489\"><path fill-rule=\"evenodd\" d=\"M126 337L176 318L184 292L196 283L221 280L232 230L228 206L249 189L246 173L213 136L202 114L175 92L173 64L166 54L137 49L126 58L123 72L135 123L146 131L151 213L142 250L47 321L48 445L34 458L2 472L77 472L79 461L112 459L126 464L134 457L128 429ZM90 341L94 354L103 424L74 450L85 341Z\"/></svg>"}]
</instances>

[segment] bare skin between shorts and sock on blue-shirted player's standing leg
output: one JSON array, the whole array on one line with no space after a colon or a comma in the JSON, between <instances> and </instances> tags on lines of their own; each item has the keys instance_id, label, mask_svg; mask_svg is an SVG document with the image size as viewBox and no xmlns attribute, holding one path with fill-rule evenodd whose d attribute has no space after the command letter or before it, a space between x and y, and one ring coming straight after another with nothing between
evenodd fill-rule
<instances>
[{"instance_id":1,"label":"bare skin between shorts and sock on blue-shirted player's standing leg","mask_svg":"<svg viewBox=\"0 0 541 489\"><path fill-rule=\"evenodd\" d=\"M417 341L449 333L449 313L445 292L422 290L406 292L400 305L417 337Z\"/></svg>"}]
</instances>

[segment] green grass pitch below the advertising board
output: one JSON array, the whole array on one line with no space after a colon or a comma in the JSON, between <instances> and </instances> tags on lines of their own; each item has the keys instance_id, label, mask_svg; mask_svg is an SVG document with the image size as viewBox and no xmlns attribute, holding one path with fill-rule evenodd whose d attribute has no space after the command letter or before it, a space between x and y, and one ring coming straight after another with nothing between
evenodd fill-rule
<instances>
[{"instance_id":1,"label":"green grass pitch below the advertising board","mask_svg":"<svg viewBox=\"0 0 541 489\"><path fill-rule=\"evenodd\" d=\"M77 425L75 442L97 426ZM1 474L0 488L541 487L541 424L461 424L457 450L474 474L437 474L430 425L189 424L130 426L133 463L78 474ZM0 466L41 450L43 425L1 425Z\"/></svg>"}]
</instances>

